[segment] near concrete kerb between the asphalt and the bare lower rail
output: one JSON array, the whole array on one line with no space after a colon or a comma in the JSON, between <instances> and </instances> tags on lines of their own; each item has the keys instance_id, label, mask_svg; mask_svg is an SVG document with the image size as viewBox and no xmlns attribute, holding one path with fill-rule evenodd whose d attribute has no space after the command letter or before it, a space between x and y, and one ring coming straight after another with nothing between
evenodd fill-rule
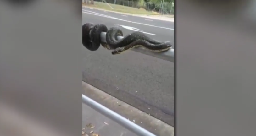
<instances>
[{"instance_id":1,"label":"near concrete kerb between the asphalt and the bare lower rail","mask_svg":"<svg viewBox=\"0 0 256 136\"><path fill-rule=\"evenodd\" d=\"M83 94L94 101L117 112L123 117L134 120L142 128L147 129L157 136L174 136L174 127L156 119L145 112L142 112L127 103L93 87L90 84L82 82Z\"/></svg>"}]
</instances>

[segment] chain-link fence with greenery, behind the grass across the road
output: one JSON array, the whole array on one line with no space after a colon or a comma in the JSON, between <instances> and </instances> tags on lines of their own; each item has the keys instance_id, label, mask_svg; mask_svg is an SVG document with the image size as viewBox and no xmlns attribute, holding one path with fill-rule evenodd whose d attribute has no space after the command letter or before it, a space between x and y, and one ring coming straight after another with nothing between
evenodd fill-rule
<instances>
[{"instance_id":1,"label":"chain-link fence with greenery, behind the grass across the road","mask_svg":"<svg viewBox=\"0 0 256 136\"><path fill-rule=\"evenodd\" d=\"M86 3L86 0L83 1ZM146 2L145 0L94 0L94 2L144 8L147 11L158 12L161 14L174 14L174 2L164 2L164 0L156 2ZM88 4L90 4L90 2L88 2Z\"/></svg>"}]
</instances>

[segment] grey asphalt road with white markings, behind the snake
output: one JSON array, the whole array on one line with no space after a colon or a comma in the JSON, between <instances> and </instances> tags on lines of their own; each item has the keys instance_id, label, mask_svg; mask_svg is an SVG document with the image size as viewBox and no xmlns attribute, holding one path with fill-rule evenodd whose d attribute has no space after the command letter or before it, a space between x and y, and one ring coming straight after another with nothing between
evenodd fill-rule
<instances>
[{"instance_id":1,"label":"grey asphalt road with white markings, behind the snake","mask_svg":"<svg viewBox=\"0 0 256 136\"><path fill-rule=\"evenodd\" d=\"M125 25L140 29L159 41L174 42L174 23L83 8L83 24ZM121 26L120 26L121 27ZM121 27L127 35L133 30ZM173 125L174 63L134 51L111 55L102 47L82 47L83 81Z\"/></svg>"}]
</instances>

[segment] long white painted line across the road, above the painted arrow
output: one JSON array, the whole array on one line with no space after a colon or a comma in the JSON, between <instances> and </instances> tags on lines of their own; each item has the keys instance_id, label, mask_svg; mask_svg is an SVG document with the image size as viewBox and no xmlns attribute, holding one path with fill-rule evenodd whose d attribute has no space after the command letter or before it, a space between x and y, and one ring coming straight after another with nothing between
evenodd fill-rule
<instances>
[{"instance_id":1,"label":"long white painted line across the road, above the painted arrow","mask_svg":"<svg viewBox=\"0 0 256 136\"><path fill-rule=\"evenodd\" d=\"M104 14L99 14L99 13L92 12L92 11L89 11L89 10L84 10L84 9L83 9L83 13L93 14L93 15L97 15L97 16L102 16L102 17L106 17L106 18L111 18L111 19L116 19L116 20L120 20L120 21L130 22L130 23L134 23L134 24L142 24L142 25L147 25L147 26L152 26L152 27L158 27L158 28L163 28L163 29L168 29L168 30L174 30L172 28L167 28L167 27L161 27L161 26L155 26L155 25L151 25L151 24L143 24L143 23L128 21L128 20L124 20L124 19L118 19L118 18L114 18L114 17L111 17L111 16L107 16L107 15L104 15Z\"/></svg>"}]
</instances>

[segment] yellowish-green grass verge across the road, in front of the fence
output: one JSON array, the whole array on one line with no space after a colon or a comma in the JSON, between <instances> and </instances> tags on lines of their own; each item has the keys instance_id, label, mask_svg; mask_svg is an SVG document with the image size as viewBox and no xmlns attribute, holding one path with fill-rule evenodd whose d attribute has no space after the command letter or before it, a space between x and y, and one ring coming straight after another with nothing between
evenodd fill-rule
<instances>
[{"instance_id":1,"label":"yellowish-green grass verge across the road, in front of the fence","mask_svg":"<svg viewBox=\"0 0 256 136\"><path fill-rule=\"evenodd\" d=\"M89 1L89 3L90 3L90 1ZM127 7L127 6L111 4L111 3L108 3L108 4L104 3L104 2L102 3L102 2L94 1L94 5L83 3L83 6L92 7L92 8L100 8L100 9L104 9L104 10L110 10L110 11L122 12L122 13L128 13L128 14L159 15L159 13L157 13L157 12L147 11L144 8L133 8L133 7Z\"/></svg>"}]
</instances>

